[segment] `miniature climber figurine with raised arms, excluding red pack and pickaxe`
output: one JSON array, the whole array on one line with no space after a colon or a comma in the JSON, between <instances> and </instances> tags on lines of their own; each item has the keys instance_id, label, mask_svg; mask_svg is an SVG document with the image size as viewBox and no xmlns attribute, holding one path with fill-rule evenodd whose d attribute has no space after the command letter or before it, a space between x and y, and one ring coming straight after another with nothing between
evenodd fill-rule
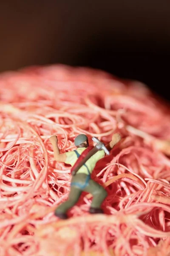
<instances>
[{"instance_id":1,"label":"miniature climber figurine with raised arms, excluding red pack and pickaxe","mask_svg":"<svg viewBox=\"0 0 170 256\"><path fill-rule=\"evenodd\" d=\"M106 148L111 151L111 149L121 140L119 134L114 134L112 141L106 145ZM57 162L63 162L74 166L77 162L79 156L83 151L89 146L88 137L85 134L79 134L74 141L77 146L77 150L66 152L64 154L59 153L59 148L57 145L57 136L52 136L50 138L51 144L54 149L54 160ZM107 196L105 189L91 179L91 173L94 167L101 158L105 157L105 151L99 150L94 155L92 155L87 162L85 162L82 167L77 171L75 175L72 176L71 180L71 190L68 200L60 204L55 210L55 215L59 218L66 219L67 211L73 207L79 200L80 195L83 191L88 192L93 195L93 200L91 203L90 213L103 213L101 209L101 204Z\"/></svg>"}]
</instances>

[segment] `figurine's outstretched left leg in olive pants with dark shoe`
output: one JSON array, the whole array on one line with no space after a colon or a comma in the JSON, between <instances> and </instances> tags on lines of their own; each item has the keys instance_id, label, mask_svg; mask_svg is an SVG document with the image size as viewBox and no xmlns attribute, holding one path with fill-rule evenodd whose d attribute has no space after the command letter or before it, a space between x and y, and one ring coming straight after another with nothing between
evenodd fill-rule
<instances>
[{"instance_id":1,"label":"figurine's outstretched left leg in olive pants with dark shoe","mask_svg":"<svg viewBox=\"0 0 170 256\"><path fill-rule=\"evenodd\" d=\"M66 212L77 203L81 193L82 193L82 190L80 188L71 186L68 200L60 204L59 207L57 207L57 209L55 210L55 215L59 218L66 219L67 218Z\"/></svg>"}]
</instances>

